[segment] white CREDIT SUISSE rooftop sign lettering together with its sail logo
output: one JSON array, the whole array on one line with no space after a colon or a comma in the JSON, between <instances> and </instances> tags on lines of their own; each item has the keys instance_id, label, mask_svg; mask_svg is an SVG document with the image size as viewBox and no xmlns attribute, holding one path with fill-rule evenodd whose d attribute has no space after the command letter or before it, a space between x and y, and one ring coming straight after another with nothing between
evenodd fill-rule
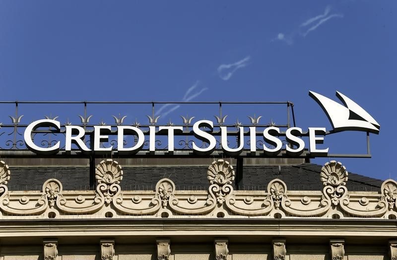
<instances>
[{"instance_id":1,"label":"white CREDIT SUISSE rooftop sign lettering together with its sail logo","mask_svg":"<svg viewBox=\"0 0 397 260\"><path fill-rule=\"evenodd\" d=\"M134 155L137 153L169 155L177 153L196 154L199 156L213 155L214 152L228 156L242 153L249 156L287 156L287 157L327 157L329 147L321 146L327 134L344 130L359 130L367 133L379 133L380 125L359 105L340 92L337 97L344 106L335 101L310 91L330 119L332 130L325 127L309 127L302 129L269 124L259 125L261 117L249 117L252 125L243 126L237 122L233 128L224 125L226 116L216 116L216 122L198 120L194 117L182 117L184 125L176 126L169 122L157 126L159 116L154 113L147 116L150 125L122 125L126 118L115 118L115 126L105 124L88 126L89 117L79 116L82 125L62 125L57 117L41 119L24 127L23 143L26 148L36 154L58 154L80 151L82 153L112 153ZM292 103L287 103L290 107ZM293 112L293 110L292 110ZM288 114L289 115L289 114ZM10 117L14 127L18 128L21 116ZM17 132L17 130L16 130ZM49 141L38 141L37 134L49 136ZM53 137L51 137L53 136ZM159 143L166 146L159 147ZM15 142L14 142L15 143ZM367 157L369 154L367 154ZM336 155L337 156L337 155ZM335 157L336 157L335 156ZM348 157L348 156L346 156ZM365 156L362 156L365 157Z\"/></svg>"}]
</instances>

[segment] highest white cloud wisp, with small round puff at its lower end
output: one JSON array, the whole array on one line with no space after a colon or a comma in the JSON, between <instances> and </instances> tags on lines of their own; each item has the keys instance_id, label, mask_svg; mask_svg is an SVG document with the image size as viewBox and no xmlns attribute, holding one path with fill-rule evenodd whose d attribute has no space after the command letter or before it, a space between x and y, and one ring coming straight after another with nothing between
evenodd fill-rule
<instances>
[{"instance_id":1,"label":"highest white cloud wisp, with small round puff at its lower end","mask_svg":"<svg viewBox=\"0 0 397 260\"><path fill-rule=\"evenodd\" d=\"M302 37L306 37L310 32L315 31L318 27L320 27L323 23L327 22L332 18L342 18L343 14L341 13L331 13L331 6L327 6L324 10L324 13L308 18L306 21L302 22L298 29L294 30L289 34L278 33L276 37L274 37L271 42L274 41L282 41L288 45L292 45L294 43L294 38L296 35L300 35Z\"/></svg>"}]
</instances>

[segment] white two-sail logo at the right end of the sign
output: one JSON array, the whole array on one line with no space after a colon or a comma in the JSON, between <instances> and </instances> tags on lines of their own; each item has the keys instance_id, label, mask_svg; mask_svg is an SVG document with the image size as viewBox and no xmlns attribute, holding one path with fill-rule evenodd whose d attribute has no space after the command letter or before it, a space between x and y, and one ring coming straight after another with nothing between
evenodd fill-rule
<instances>
[{"instance_id":1,"label":"white two-sail logo at the right end of the sign","mask_svg":"<svg viewBox=\"0 0 397 260\"><path fill-rule=\"evenodd\" d=\"M339 91L336 91L336 96L344 106L313 91L309 91L309 96L323 108L334 131L358 130L379 133L381 126L378 122L353 100Z\"/></svg>"}]
</instances>

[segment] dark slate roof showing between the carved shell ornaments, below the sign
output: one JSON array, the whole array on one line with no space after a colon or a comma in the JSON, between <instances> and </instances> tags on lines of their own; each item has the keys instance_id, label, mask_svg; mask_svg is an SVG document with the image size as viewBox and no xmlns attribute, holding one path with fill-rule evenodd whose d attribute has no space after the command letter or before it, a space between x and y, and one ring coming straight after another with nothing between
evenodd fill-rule
<instances>
[{"instance_id":1,"label":"dark slate roof showing between the carved shell ornaments, below the sign","mask_svg":"<svg viewBox=\"0 0 397 260\"><path fill-rule=\"evenodd\" d=\"M154 190L162 178L171 179L177 190L206 190L208 166L146 166L123 167L122 190ZM235 166L234 166L235 168ZM290 191L322 191L320 181L321 165L305 163L300 165L244 166L242 190L266 190L273 179L285 182ZM235 168L236 169L236 168ZM280 171L279 171L280 169ZM43 183L56 178L64 190L88 190L88 167L10 167L10 191L42 190ZM349 191L380 191L381 180L349 173Z\"/></svg>"}]
</instances>

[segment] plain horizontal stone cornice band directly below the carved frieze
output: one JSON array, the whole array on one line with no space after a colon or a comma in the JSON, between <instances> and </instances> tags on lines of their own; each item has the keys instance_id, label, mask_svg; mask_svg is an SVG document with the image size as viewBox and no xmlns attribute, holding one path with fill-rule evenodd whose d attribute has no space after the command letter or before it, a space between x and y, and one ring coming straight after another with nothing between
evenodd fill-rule
<instances>
[{"instance_id":1,"label":"plain horizontal stone cornice band directly below the carved frieze","mask_svg":"<svg viewBox=\"0 0 397 260\"><path fill-rule=\"evenodd\" d=\"M18 236L301 236L397 237L388 219L91 219L0 221L1 237Z\"/></svg>"}]
</instances>

